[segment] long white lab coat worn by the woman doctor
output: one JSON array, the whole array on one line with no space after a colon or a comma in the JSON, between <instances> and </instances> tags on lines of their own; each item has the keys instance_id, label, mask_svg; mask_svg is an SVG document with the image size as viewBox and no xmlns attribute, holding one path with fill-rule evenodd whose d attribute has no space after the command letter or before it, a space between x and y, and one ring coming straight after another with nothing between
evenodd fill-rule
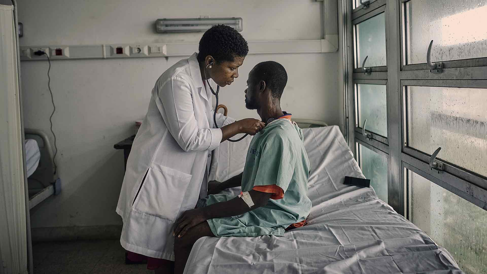
<instances>
[{"instance_id":1,"label":"long white lab coat worn by the woman doctor","mask_svg":"<svg viewBox=\"0 0 487 274\"><path fill-rule=\"evenodd\" d=\"M116 209L123 219L120 243L126 250L174 260L174 222L206 196L211 151L222 140L211 103L196 53L156 81ZM233 121L217 114L219 126Z\"/></svg>"}]
</instances>

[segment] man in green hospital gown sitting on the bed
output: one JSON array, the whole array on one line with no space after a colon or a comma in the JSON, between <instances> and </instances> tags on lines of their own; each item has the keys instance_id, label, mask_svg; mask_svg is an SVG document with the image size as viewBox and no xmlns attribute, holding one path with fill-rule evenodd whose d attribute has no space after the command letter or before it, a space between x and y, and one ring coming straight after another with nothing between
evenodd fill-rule
<instances>
[{"instance_id":1,"label":"man in green hospital gown sitting on the bed","mask_svg":"<svg viewBox=\"0 0 487 274\"><path fill-rule=\"evenodd\" d=\"M306 195L310 164L302 130L281 110L287 82L284 67L274 61L249 73L245 106L267 122L248 148L244 172L208 185L204 207L188 210L175 223L174 273L183 273L193 244L204 236L284 235L305 223L311 210ZM240 196L215 194L242 186ZM213 194L212 194L213 193Z\"/></svg>"}]
</instances>

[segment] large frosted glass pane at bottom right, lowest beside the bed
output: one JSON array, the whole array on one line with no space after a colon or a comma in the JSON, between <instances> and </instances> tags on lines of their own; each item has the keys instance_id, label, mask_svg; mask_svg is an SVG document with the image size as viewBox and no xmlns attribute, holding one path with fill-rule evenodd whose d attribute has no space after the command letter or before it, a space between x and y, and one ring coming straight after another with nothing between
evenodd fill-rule
<instances>
[{"instance_id":1,"label":"large frosted glass pane at bottom right, lowest beside the bed","mask_svg":"<svg viewBox=\"0 0 487 274\"><path fill-rule=\"evenodd\" d=\"M467 274L487 273L487 211L412 171L411 221Z\"/></svg>"}]
</instances>

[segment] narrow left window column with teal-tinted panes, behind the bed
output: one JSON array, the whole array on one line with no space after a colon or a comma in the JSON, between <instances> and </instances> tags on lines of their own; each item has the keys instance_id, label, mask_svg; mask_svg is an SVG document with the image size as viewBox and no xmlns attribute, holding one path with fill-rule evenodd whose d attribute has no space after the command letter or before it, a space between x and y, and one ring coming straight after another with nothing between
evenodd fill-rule
<instances>
[{"instance_id":1,"label":"narrow left window column with teal-tinted panes, behind the bed","mask_svg":"<svg viewBox=\"0 0 487 274\"><path fill-rule=\"evenodd\" d=\"M371 1L354 11L356 158L377 196L388 202L386 5ZM372 4L373 3L373 4ZM360 2L356 1L356 6ZM365 62L364 62L365 61Z\"/></svg>"}]
</instances>

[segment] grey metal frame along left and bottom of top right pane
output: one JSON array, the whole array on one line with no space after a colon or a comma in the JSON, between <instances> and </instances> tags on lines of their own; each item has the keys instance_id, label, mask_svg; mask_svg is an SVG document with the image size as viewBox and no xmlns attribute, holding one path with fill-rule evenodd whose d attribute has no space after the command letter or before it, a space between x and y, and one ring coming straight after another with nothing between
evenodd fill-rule
<instances>
[{"instance_id":1,"label":"grey metal frame along left and bottom of top right pane","mask_svg":"<svg viewBox=\"0 0 487 274\"><path fill-rule=\"evenodd\" d=\"M487 57L441 61L443 73L432 74L426 62L406 64L408 14L406 3L413 0L401 0L401 79L487 79ZM426 61L426 56L425 56ZM415 72L412 72L415 71Z\"/></svg>"}]
</instances>

